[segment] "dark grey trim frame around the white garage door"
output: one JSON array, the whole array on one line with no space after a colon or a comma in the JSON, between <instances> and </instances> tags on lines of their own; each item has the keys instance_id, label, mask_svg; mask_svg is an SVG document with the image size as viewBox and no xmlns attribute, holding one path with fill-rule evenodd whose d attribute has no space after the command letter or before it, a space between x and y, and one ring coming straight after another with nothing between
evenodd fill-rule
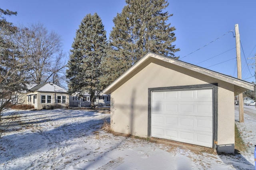
<instances>
[{"instance_id":1,"label":"dark grey trim frame around the white garage door","mask_svg":"<svg viewBox=\"0 0 256 170\"><path fill-rule=\"evenodd\" d=\"M148 88L148 137L151 138L151 105L152 105L152 92L154 91L168 91L168 90L189 90L189 89L206 89L212 88L212 148L216 149L215 141L217 140L217 131L218 131L218 83L213 84L201 84L201 85L185 85L185 86L172 86L172 87L155 87ZM215 145L215 146L214 146Z\"/></svg>"}]
</instances>

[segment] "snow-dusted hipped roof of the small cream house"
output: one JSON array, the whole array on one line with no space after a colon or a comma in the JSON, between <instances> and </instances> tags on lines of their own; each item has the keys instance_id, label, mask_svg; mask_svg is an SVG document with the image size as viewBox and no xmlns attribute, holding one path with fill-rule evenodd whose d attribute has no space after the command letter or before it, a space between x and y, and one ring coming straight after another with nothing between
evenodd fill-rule
<instances>
[{"instance_id":1,"label":"snow-dusted hipped roof of the small cream house","mask_svg":"<svg viewBox=\"0 0 256 170\"><path fill-rule=\"evenodd\" d=\"M29 89L29 91L68 93L68 91L54 83L42 83L32 87L32 89Z\"/></svg>"}]
</instances>

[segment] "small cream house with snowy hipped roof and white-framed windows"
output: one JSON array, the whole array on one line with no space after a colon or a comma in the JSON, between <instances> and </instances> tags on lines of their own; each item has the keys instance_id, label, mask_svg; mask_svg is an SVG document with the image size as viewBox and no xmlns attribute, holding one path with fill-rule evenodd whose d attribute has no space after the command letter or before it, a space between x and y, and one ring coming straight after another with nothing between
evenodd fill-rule
<instances>
[{"instance_id":1,"label":"small cream house with snowy hipped roof and white-framed windows","mask_svg":"<svg viewBox=\"0 0 256 170\"><path fill-rule=\"evenodd\" d=\"M54 107L68 108L68 91L53 83L36 85L25 93L23 104L34 106L35 109L51 109Z\"/></svg>"}]
</instances>

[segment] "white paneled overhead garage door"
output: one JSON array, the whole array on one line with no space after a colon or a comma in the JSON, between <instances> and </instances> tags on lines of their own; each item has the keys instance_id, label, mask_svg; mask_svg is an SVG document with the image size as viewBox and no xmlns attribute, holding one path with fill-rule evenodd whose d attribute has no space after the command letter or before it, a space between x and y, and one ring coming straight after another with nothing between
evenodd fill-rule
<instances>
[{"instance_id":1,"label":"white paneled overhead garage door","mask_svg":"<svg viewBox=\"0 0 256 170\"><path fill-rule=\"evenodd\" d=\"M212 89L152 92L152 137L212 147Z\"/></svg>"}]
</instances>

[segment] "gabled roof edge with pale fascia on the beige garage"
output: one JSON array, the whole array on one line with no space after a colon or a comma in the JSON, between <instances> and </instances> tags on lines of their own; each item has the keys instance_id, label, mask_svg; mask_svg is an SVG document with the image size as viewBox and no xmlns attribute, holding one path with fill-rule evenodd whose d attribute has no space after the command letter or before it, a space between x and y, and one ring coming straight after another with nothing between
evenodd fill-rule
<instances>
[{"instance_id":1,"label":"gabled roof edge with pale fascia on the beige garage","mask_svg":"<svg viewBox=\"0 0 256 170\"><path fill-rule=\"evenodd\" d=\"M231 77L222 73L218 73L216 71L212 71L203 67L199 67L190 63L186 63L184 61L176 60L176 59L171 59L168 57L164 57L162 55L158 55L155 53L147 53L144 57L142 57L136 64L134 64L130 69L128 69L124 74L122 74L118 79L116 79L112 84L110 84L106 89L102 91L101 94L110 94L112 93L115 89L117 89L123 81L127 81L127 78L129 79L129 76L132 75L136 70L139 71L139 67L143 67L143 65L146 65L153 62L154 60L160 60L164 61L169 64L177 65L179 67L186 68L191 71L195 71L198 73L202 73L204 75L207 75L209 77L213 77L215 79L219 79L221 81L225 81L227 83L231 83L234 85L234 93L235 95L238 95L240 93L243 93L246 90L254 90L254 83L250 83L248 81L244 81L241 79L237 79L235 77Z\"/></svg>"}]
</instances>

